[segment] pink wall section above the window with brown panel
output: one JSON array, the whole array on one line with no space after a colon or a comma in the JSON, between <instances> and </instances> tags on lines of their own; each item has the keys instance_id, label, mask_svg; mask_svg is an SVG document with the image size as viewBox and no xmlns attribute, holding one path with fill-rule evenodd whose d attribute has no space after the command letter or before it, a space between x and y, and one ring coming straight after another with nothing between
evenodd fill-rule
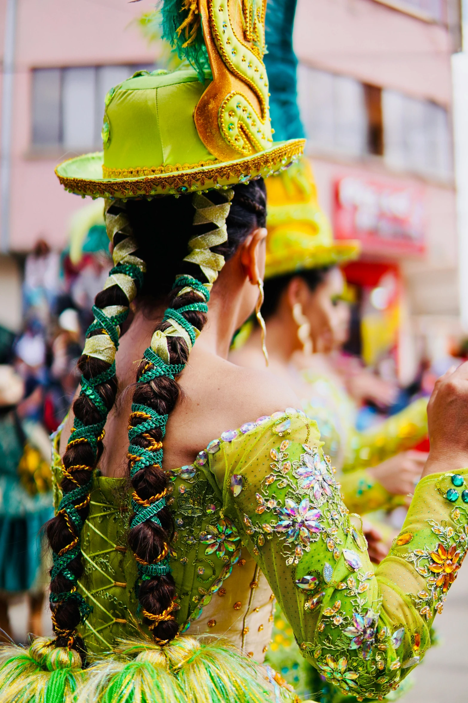
<instances>
[{"instance_id":1,"label":"pink wall section above the window with brown panel","mask_svg":"<svg viewBox=\"0 0 468 703\"><path fill-rule=\"evenodd\" d=\"M298 0L294 38L304 63L450 103L446 27L373 0Z\"/></svg>"}]
</instances>

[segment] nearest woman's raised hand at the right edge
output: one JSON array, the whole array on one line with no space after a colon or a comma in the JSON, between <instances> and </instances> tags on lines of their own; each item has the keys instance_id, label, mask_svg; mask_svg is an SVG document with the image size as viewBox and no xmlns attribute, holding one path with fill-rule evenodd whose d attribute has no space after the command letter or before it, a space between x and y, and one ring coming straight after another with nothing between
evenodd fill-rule
<instances>
[{"instance_id":1,"label":"nearest woman's raised hand at the right edge","mask_svg":"<svg viewBox=\"0 0 468 703\"><path fill-rule=\"evenodd\" d=\"M423 476L468 467L468 363L436 381L427 405L430 451Z\"/></svg>"}]
</instances>

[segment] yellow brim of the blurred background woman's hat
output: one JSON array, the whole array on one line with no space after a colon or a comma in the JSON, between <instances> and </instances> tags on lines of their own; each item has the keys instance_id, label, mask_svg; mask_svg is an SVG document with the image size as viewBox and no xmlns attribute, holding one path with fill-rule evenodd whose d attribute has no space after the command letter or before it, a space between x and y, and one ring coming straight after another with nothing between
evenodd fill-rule
<instances>
[{"instance_id":1,"label":"yellow brim of the blurred background woman's hat","mask_svg":"<svg viewBox=\"0 0 468 703\"><path fill-rule=\"evenodd\" d=\"M286 273L300 273L308 269L321 269L324 266L336 266L357 259L361 252L361 242L355 239L337 240L329 246L317 246L307 251L284 252L281 256L269 256L265 266L265 280Z\"/></svg>"}]
</instances>

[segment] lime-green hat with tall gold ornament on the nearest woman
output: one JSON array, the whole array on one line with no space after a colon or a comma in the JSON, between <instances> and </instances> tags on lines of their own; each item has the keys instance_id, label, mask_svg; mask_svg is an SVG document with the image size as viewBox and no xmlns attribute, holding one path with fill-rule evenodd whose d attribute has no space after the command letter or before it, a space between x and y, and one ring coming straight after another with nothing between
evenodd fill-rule
<instances>
[{"instance_id":1,"label":"lime-green hat with tall gold ornament on the nearest woman","mask_svg":"<svg viewBox=\"0 0 468 703\"><path fill-rule=\"evenodd\" d=\"M250 4L255 11L245 2L236 26L225 0L216 0L216 8L214 0L201 0L210 69L141 71L111 89L104 150L60 164L60 183L93 198L168 195L266 177L296 160L305 140L272 138L262 63L265 15L255 13L254 22Z\"/></svg>"}]
</instances>

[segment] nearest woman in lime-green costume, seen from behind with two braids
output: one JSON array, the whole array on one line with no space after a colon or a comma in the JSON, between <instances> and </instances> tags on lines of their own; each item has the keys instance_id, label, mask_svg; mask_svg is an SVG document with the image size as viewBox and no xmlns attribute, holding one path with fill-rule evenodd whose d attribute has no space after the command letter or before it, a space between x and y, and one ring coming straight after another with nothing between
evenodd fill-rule
<instances>
[{"instance_id":1,"label":"nearest woman in lime-green costume, seen from behind with two braids","mask_svg":"<svg viewBox=\"0 0 468 703\"><path fill-rule=\"evenodd\" d=\"M466 550L468 369L439 382L431 460L374 574L316 424L266 371L227 361L264 269L255 179L302 149L269 143L264 8L244 2L235 33L224 0L175 9L166 27L194 39L203 83L192 69L123 82L104 153L58 167L107 198L115 266L55 467L55 637L4 647L0 700L279 700L258 664L274 598L328 681L380 698L427 650Z\"/></svg>"}]
</instances>

